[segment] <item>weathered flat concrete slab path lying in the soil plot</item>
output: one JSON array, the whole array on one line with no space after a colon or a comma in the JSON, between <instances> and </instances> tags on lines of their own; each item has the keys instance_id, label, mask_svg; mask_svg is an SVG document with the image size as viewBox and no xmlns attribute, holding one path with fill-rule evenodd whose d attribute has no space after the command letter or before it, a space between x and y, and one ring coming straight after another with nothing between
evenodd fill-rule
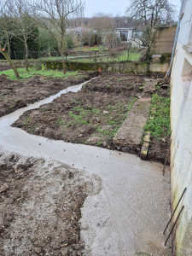
<instances>
[{"instance_id":1,"label":"weathered flat concrete slab path lying in the soil plot","mask_svg":"<svg viewBox=\"0 0 192 256\"><path fill-rule=\"evenodd\" d=\"M150 98L140 99L134 103L123 125L113 138L113 143L117 148L127 148L128 152L137 150L141 144L143 126L148 119L149 107Z\"/></svg>"}]
</instances>

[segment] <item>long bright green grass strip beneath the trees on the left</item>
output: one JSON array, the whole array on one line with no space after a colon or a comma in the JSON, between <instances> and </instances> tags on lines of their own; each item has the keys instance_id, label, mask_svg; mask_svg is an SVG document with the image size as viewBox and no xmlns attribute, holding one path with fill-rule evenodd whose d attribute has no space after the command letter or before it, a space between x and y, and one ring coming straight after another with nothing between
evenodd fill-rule
<instances>
[{"instance_id":1,"label":"long bright green grass strip beneath the trees on the left","mask_svg":"<svg viewBox=\"0 0 192 256\"><path fill-rule=\"evenodd\" d=\"M66 74L62 73L62 71L57 70L38 70L35 67L29 68L29 71L26 72L25 68L18 68L17 69L20 74L20 79L29 79L34 76L44 76L44 77L52 77L52 78L61 78L61 79L67 79L68 77L71 77L73 75L77 75L79 72L67 72ZM15 73L13 69L1 71L0 75L5 74L9 79L11 80L17 80L15 77Z\"/></svg>"}]
</instances>

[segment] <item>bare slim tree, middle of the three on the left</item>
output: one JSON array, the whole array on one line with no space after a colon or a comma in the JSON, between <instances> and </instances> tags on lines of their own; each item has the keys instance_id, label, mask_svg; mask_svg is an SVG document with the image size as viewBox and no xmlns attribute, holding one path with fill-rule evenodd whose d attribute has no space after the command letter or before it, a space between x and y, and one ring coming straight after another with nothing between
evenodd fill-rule
<instances>
[{"instance_id":1,"label":"bare slim tree, middle of the three on the left","mask_svg":"<svg viewBox=\"0 0 192 256\"><path fill-rule=\"evenodd\" d=\"M35 24L30 17L30 2L28 0L9 0L9 12L14 18L12 25L12 35L20 39L25 45L26 49L26 71L29 70L28 58L29 48L28 41L30 38L34 39ZM38 39L38 38L36 38Z\"/></svg>"}]
</instances>

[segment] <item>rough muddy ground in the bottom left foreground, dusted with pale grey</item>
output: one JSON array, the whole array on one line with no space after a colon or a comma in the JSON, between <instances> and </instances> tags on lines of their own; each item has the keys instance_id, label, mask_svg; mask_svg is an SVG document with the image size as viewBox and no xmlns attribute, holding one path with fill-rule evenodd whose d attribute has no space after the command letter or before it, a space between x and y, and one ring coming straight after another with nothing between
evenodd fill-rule
<instances>
[{"instance_id":1,"label":"rough muddy ground in the bottom left foreground, dusted with pale grey","mask_svg":"<svg viewBox=\"0 0 192 256\"><path fill-rule=\"evenodd\" d=\"M96 175L60 162L0 152L0 255L84 255L80 208Z\"/></svg>"}]
</instances>

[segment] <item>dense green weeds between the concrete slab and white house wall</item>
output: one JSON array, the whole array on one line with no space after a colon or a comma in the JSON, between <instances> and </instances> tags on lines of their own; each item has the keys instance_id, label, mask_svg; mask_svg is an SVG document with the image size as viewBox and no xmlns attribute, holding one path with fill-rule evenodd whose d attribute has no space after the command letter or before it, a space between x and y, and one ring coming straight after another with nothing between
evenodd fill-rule
<instances>
[{"instance_id":1,"label":"dense green weeds between the concrete slab and white house wall","mask_svg":"<svg viewBox=\"0 0 192 256\"><path fill-rule=\"evenodd\" d=\"M171 132L170 125L170 97L165 98L154 94L151 100L150 115L154 115L154 119L148 119L144 126L144 131L151 131L151 136L157 139L169 136ZM153 109L156 112L153 112Z\"/></svg>"}]
</instances>

